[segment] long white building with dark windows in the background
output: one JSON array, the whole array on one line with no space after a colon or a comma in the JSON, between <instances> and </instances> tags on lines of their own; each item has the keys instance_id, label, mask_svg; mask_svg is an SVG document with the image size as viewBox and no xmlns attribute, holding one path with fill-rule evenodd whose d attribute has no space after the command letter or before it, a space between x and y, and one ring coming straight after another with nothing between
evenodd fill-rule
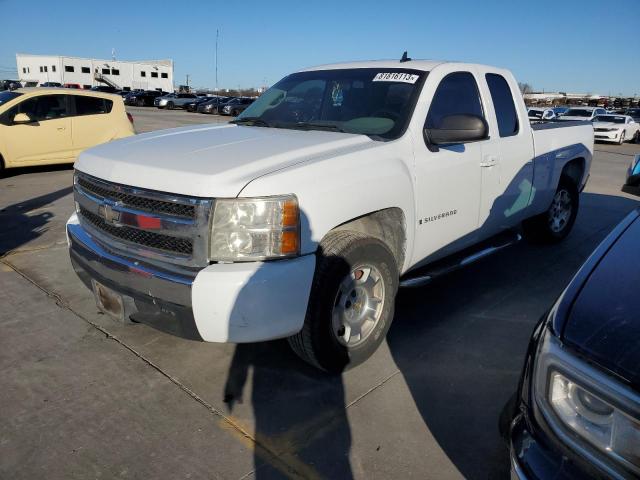
<instances>
[{"instance_id":1,"label":"long white building with dark windows in the background","mask_svg":"<svg viewBox=\"0 0 640 480\"><path fill-rule=\"evenodd\" d=\"M16 64L23 84L58 82L81 88L111 85L121 90L173 92L173 60L126 62L18 53Z\"/></svg>"}]
</instances>

